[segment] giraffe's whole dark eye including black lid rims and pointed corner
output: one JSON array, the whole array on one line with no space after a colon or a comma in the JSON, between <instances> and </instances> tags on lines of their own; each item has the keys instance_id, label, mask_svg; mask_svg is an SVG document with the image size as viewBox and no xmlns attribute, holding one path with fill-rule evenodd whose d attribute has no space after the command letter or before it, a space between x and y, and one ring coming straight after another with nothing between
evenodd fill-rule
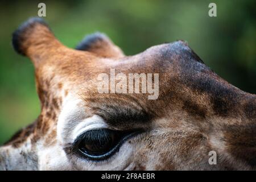
<instances>
[{"instance_id":1,"label":"giraffe's whole dark eye including black lid rims and pointed corner","mask_svg":"<svg viewBox=\"0 0 256 182\"><path fill-rule=\"evenodd\" d=\"M109 129L90 130L77 138L76 145L79 154L85 158L103 160L117 152L121 144L135 133Z\"/></svg>"}]
</instances>

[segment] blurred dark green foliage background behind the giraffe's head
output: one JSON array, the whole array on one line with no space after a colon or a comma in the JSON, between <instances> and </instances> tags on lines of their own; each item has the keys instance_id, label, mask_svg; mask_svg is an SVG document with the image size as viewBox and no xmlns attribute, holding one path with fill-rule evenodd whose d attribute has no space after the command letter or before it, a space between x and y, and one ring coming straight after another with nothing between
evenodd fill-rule
<instances>
[{"instance_id":1,"label":"blurred dark green foliage background behind the giraffe's head","mask_svg":"<svg viewBox=\"0 0 256 182\"><path fill-rule=\"evenodd\" d=\"M0 144L40 112L34 68L11 46L11 34L46 3L56 37L75 47L86 34L105 32L127 55L187 40L218 75L256 93L256 1L2 1L0 3ZM208 16L210 2L217 17Z\"/></svg>"}]
</instances>

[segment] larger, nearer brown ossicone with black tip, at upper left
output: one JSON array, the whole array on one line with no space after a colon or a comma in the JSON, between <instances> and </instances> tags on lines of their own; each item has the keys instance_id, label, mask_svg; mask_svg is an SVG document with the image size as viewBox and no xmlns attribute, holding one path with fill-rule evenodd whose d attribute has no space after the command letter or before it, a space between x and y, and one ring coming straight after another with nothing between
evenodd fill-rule
<instances>
[{"instance_id":1,"label":"larger, nearer brown ossicone with black tip, at upper left","mask_svg":"<svg viewBox=\"0 0 256 182\"><path fill-rule=\"evenodd\" d=\"M20 55L30 57L36 66L64 46L42 18L30 18L13 32L13 47Z\"/></svg>"}]
</instances>

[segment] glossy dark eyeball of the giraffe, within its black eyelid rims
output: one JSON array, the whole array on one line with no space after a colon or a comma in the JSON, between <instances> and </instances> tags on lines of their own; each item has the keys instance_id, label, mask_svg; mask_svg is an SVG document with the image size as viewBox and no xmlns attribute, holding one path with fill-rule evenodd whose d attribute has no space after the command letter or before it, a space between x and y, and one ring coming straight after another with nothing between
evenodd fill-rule
<instances>
[{"instance_id":1,"label":"glossy dark eyeball of the giraffe, within its black eyelid rims","mask_svg":"<svg viewBox=\"0 0 256 182\"><path fill-rule=\"evenodd\" d=\"M80 149L89 155L103 155L114 147L117 135L107 129L87 131L80 143Z\"/></svg>"}]
</instances>

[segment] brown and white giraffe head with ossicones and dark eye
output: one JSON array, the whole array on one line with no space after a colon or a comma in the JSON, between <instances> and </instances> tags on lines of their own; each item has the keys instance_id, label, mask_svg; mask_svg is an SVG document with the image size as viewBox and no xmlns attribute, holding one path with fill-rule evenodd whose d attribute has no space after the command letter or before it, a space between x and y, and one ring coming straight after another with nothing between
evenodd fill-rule
<instances>
[{"instance_id":1,"label":"brown and white giraffe head with ossicones and dark eye","mask_svg":"<svg viewBox=\"0 0 256 182\"><path fill-rule=\"evenodd\" d=\"M43 19L30 18L14 32L13 46L35 67L41 111L0 147L0 169L255 169L255 95L216 75L187 42L125 56L96 33L71 49ZM159 97L98 93L98 74L112 68L159 73Z\"/></svg>"}]
</instances>

